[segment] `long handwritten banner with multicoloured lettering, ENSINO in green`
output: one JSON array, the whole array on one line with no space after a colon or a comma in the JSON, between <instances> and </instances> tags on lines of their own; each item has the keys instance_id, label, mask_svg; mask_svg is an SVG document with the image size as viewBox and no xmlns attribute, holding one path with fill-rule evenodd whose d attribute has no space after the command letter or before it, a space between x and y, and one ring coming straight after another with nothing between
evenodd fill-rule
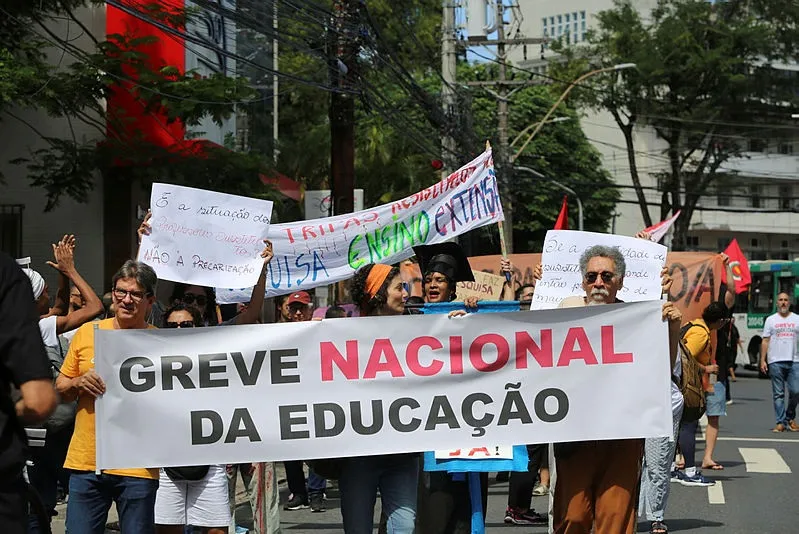
<instances>
[{"instance_id":1,"label":"long handwritten banner with multicoloured lettering, ENSINO in green","mask_svg":"<svg viewBox=\"0 0 799 534\"><path fill-rule=\"evenodd\" d=\"M442 243L504 220L487 150L447 178L402 200L355 213L272 225L275 258L267 295L347 280L368 263L396 263L411 247Z\"/></svg>"}]
</instances>

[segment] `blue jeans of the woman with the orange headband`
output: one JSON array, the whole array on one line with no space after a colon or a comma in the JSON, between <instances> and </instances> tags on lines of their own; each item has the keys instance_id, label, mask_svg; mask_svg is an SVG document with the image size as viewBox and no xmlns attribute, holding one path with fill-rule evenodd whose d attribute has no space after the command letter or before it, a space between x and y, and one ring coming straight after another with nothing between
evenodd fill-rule
<instances>
[{"instance_id":1,"label":"blue jeans of the woman with the orange headband","mask_svg":"<svg viewBox=\"0 0 799 534\"><path fill-rule=\"evenodd\" d=\"M388 534L413 534L418 480L415 454L348 458L339 479L345 534L372 534L378 488Z\"/></svg>"}]
</instances>

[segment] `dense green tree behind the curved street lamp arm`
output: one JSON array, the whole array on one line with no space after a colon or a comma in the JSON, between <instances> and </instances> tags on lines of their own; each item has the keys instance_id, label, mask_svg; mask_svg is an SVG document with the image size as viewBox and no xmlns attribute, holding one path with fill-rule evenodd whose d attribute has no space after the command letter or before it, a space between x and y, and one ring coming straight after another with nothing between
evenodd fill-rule
<instances>
[{"instance_id":1,"label":"dense green tree behind the curved street lamp arm","mask_svg":"<svg viewBox=\"0 0 799 534\"><path fill-rule=\"evenodd\" d=\"M458 71L460 80L492 79L496 73L492 64L463 65ZM517 91L510 102L510 139L514 140L525 128L537 122L555 103L553 88L543 85ZM484 139L496 139L496 100L483 93L474 95L472 106L475 130ZM605 232L618 191L610 175L602 168L597 150L586 139L575 110L561 105L556 117L569 120L547 124L525 148L514 165L532 168L542 175L572 188L584 208L586 231ZM526 137L522 136L523 142ZM520 146L517 143L515 146ZM517 250L537 251L543 246L547 230L557 219L563 190L551 181L542 180L522 171L513 171L508 191L514 198L513 235ZM570 228L577 228L576 203L570 204ZM492 229L493 231L493 229Z\"/></svg>"}]
</instances>

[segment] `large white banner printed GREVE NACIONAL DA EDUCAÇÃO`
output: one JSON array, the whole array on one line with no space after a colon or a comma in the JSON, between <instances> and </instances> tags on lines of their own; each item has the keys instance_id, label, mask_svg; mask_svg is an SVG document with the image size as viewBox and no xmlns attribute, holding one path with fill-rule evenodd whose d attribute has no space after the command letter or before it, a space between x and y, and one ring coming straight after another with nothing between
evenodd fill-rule
<instances>
[{"instance_id":1,"label":"large white banner printed GREVE NACIONAL DA EDUCA\u00c7\u00c3O","mask_svg":"<svg viewBox=\"0 0 799 534\"><path fill-rule=\"evenodd\" d=\"M97 465L668 436L660 308L97 330Z\"/></svg>"}]
</instances>

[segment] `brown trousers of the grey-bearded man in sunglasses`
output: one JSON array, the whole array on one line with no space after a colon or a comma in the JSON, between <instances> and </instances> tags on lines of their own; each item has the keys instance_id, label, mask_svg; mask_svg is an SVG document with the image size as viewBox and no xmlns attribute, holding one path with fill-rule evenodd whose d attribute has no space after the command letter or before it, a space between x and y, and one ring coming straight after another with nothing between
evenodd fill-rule
<instances>
[{"instance_id":1,"label":"brown trousers of the grey-bearded man in sunglasses","mask_svg":"<svg viewBox=\"0 0 799 534\"><path fill-rule=\"evenodd\" d=\"M642 439L568 444L558 456L555 534L634 534Z\"/></svg>"}]
</instances>

